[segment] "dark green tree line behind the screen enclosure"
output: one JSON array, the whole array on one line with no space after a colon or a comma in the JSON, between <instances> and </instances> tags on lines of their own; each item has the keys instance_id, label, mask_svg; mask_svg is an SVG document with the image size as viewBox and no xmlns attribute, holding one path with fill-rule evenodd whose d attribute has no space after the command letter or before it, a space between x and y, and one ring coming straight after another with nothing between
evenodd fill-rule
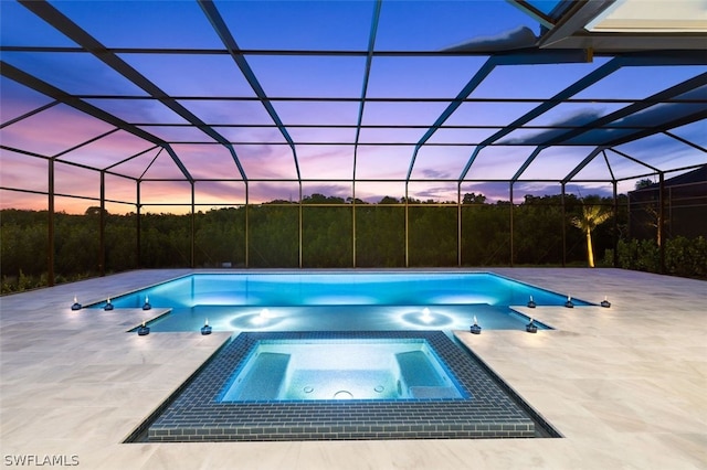
<instances>
[{"instance_id":1,"label":"dark green tree line behind the screen enclosure","mask_svg":"<svg viewBox=\"0 0 707 470\"><path fill-rule=\"evenodd\" d=\"M452 267L460 264L460 246L462 266L587 266L585 231L576 225L589 205L611 213L614 209L611 197L568 194L562 203L560 195L527 195L511 205L475 193L465 194L461 205L389 196L366 203L313 194L302 204L277 200L139 217L106 212L102 217L99 207L89 207L81 215L54 214L54 271L62 282L102 271L192 265ZM593 228L599 265L612 263L615 241L625 233L624 195L616 207L614 223ZM3 291L45 285L48 212L4 210L0 216Z\"/></svg>"}]
</instances>

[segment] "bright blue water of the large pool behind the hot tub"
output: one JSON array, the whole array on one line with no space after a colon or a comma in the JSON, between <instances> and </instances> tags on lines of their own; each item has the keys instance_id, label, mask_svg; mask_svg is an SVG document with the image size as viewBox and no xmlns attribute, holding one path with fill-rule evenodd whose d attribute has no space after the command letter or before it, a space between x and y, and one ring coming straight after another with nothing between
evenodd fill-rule
<instances>
[{"instance_id":1,"label":"bright blue water of the large pool behind the hot tub","mask_svg":"<svg viewBox=\"0 0 707 470\"><path fill-rule=\"evenodd\" d=\"M194 274L112 299L116 308L171 309L154 332L518 329L509 306L561 306L564 295L486 273ZM588 302L572 299L577 306ZM92 307L102 308L105 302ZM154 314L146 312L146 320ZM542 328L542 325L539 325Z\"/></svg>"}]
</instances>

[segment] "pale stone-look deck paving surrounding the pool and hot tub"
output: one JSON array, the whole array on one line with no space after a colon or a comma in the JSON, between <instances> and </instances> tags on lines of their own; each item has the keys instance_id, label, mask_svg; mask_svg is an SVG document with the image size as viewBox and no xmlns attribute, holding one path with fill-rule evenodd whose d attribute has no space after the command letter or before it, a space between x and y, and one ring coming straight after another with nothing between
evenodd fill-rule
<instances>
[{"instance_id":1,"label":"pale stone-look deck paving surrounding the pool and hot tub","mask_svg":"<svg viewBox=\"0 0 707 470\"><path fill-rule=\"evenodd\" d=\"M139 309L71 311L191 270L0 298L2 466L89 469L704 469L707 282L620 269L497 273L611 309L548 307L555 331L458 332L563 439L122 444L229 337L127 334ZM54 463L53 467L57 467ZM44 464L39 468L48 468Z\"/></svg>"}]
</instances>

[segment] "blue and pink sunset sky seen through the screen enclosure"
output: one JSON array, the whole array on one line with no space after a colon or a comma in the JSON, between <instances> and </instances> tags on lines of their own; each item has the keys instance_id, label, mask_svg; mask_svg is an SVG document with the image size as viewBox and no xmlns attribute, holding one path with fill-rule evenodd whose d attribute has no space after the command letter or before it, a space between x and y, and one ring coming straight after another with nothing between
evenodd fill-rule
<instances>
[{"instance_id":1,"label":"blue and pink sunset sky seen through the screen enclosure","mask_svg":"<svg viewBox=\"0 0 707 470\"><path fill-rule=\"evenodd\" d=\"M479 43L507 40L519 31L540 34L534 18L502 0L386 0L381 3L373 50L390 54L372 56L370 77L366 82L365 52L376 2L215 1L218 12L241 50L277 51L243 57L294 142L295 160L287 136L274 126L273 117L257 99L253 82L249 83L234 60L224 53L222 40L198 2L50 3L102 45L115 50L115 55L145 79L143 83L151 83L154 89L173 97L172 105L154 99L144 86L95 55L74 50L75 41L30 9L8 0L0 0L3 63L107 111L131 128L169 142L194 179L221 180L196 183L196 202L201 210L244 203L245 184L229 149L214 140L213 135L188 126L184 114L177 113L176 107L231 142L249 179L252 203L274 199L296 201L297 171L303 180L303 195L324 193L349 197L354 195L351 180L356 178L358 199L377 202L384 195L401 197L415 143L488 58L432 53L472 40ZM556 2L535 3L545 8ZM646 8L650 3L646 2ZM526 30L521 30L523 26ZM28 50L32 46L49 49ZM157 50L170 50L170 53L158 54ZM189 50L205 53L194 54ZM287 53L292 51L319 53ZM326 54L341 51L349 53ZM456 201L455 181L476 145L610 61L611 57L595 56L588 63L495 67L471 92L468 98L472 99L462 103L426 140L428 145L420 148L410 173L410 196ZM468 182L462 184L462 193L482 192L492 200L508 200L506 181L476 180L513 178L536 149L532 142L538 136L552 131L550 126L590 122L706 72L705 64L621 67L572 96L574 102L555 106L527 122L525 128L481 150L465 174ZM366 102L361 110L359 98L363 90L371 100ZM704 108L706 95L703 86L685 94L684 98L693 99L692 106ZM48 191L49 163L31 157L38 154L56 161L56 193L94 199L57 196L59 211L83 212L87 206L97 205L95 199L99 196L98 172L62 162L106 170L108 200L134 203L137 190L135 181L128 179L131 178L144 180L141 202L156 204L150 211L188 209L163 206L190 204L191 185L186 181L154 181L184 179L169 153L155 143L66 104L53 104L53 98L7 77L4 72L0 78L0 98L3 147L0 150L0 207L46 209L46 195L13 191ZM52 106L14 121L45 105ZM633 125L641 119L642 126L659 120L672 113L669 106L646 108ZM357 135L359 113L362 127ZM621 126L621 122L614 125ZM672 136L659 133L619 145L616 151L608 150L606 159L614 177L651 172L632 159L659 170L707 163L704 119L669 132ZM559 193L557 181L594 148L593 142L588 142L541 151L520 180L552 182L520 181L514 186L515 199L523 200L525 194ZM600 156L576 179L605 181L610 178L606 162ZM634 182L621 183L620 191L633 189ZM608 182L579 181L568 184L567 190L581 196L611 194L611 189ZM109 203L107 209L129 212L135 206Z\"/></svg>"}]
</instances>

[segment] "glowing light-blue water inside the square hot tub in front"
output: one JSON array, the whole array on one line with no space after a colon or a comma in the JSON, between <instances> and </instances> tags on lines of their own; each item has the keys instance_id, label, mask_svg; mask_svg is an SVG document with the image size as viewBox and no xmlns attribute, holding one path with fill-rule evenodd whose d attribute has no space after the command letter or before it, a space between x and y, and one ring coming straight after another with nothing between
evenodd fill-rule
<instances>
[{"instance_id":1,"label":"glowing light-blue water inside the square hot tub in front","mask_svg":"<svg viewBox=\"0 0 707 470\"><path fill-rule=\"evenodd\" d=\"M425 340L258 341L220 402L462 398Z\"/></svg>"}]
</instances>

